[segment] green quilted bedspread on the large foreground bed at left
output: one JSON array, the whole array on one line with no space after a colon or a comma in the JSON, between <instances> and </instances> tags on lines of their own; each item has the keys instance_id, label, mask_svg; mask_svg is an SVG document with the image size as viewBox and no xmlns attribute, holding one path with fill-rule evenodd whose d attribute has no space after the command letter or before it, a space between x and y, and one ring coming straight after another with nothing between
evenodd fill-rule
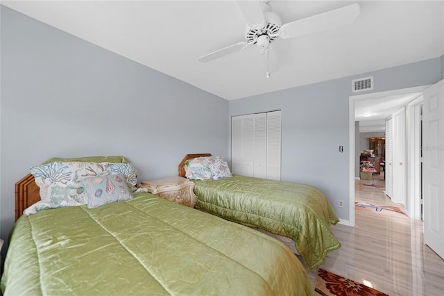
<instances>
[{"instance_id":1,"label":"green quilted bedspread on the large foreground bed at left","mask_svg":"<svg viewBox=\"0 0 444 296\"><path fill-rule=\"evenodd\" d=\"M248 227L149 193L99 208L22 216L8 295L312 295L287 247Z\"/></svg>"}]
</instances>

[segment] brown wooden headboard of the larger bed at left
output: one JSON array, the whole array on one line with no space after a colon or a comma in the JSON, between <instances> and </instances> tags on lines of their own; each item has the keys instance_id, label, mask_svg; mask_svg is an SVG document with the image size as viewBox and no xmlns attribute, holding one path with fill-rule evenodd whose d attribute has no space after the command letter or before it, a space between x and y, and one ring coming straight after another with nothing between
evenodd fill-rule
<instances>
[{"instance_id":1,"label":"brown wooden headboard of the larger bed at left","mask_svg":"<svg viewBox=\"0 0 444 296\"><path fill-rule=\"evenodd\" d=\"M25 208L40 201L40 188L32 174L15 183L15 220L23 214Z\"/></svg>"}]
</instances>

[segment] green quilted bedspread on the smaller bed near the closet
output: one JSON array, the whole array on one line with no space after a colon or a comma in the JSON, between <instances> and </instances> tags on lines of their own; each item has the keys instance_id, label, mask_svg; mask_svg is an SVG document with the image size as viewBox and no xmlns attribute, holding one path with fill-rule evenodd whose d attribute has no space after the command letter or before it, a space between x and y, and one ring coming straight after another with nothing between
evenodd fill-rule
<instances>
[{"instance_id":1,"label":"green quilted bedspread on the smaller bed near the closet","mask_svg":"<svg viewBox=\"0 0 444 296\"><path fill-rule=\"evenodd\" d=\"M196 208L291 238L309 269L341 247L330 231L339 218L327 197L312 186L239 175L193 181Z\"/></svg>"}]
</instances>

